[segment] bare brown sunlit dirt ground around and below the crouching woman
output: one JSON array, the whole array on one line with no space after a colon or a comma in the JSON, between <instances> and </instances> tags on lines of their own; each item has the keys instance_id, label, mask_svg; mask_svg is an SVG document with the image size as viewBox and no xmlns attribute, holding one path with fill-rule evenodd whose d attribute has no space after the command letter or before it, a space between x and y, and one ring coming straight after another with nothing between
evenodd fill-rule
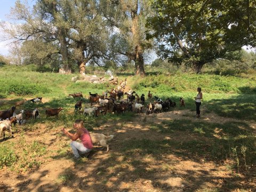
<instances>
[{"instance_id":1,"label":"bare brown sunlit dirt ground around and below the crouching woman","mask_svg":"<svg viewBox=\"0 0 256 192\"><path fill-rule=\"evenodd\" d=\"M202 109L204 114L204 109ZM174 153L159 155L146 154L140 151L133 156L123 154L123 143L136 139L162 141L188 141L197 139L196 135L184 132L160 133L150 129L152 123L161 124L173 119L187 119L209 123L226 123L238 121L222 118L215 114L205 114L201 119L194 117L189 110L173 110L161 114L138 114L132 121L117 124L104 123L94 128L94 132L106 135L114 134L110 141L110 151L95 147L88 158L82 162L72 159L71 149L66 155L54 152L70 142L59 136L58 129L49 131L44 124L39 124L37 131L25 132L26 142L37 140L53 151L48 157L41 159L38 168L17 173L8 169L1 170L0 191L256 191L256 175L237 174L227 169L225 163L201 159L197 154L186 158ZM255 122L246 122L256 129ZM118 129L116 129L118 127ZM19 142L21 133L15 134L15 142ZM200 139L200 138L198 138ZM0 143L1 145L1 143ZM191 158L190 158L191 157ZM60 182L60 175L68 179ZM235 188L228 190L229 183L236 183ZM248 187L249 186L249 187Z\"/></svg>"}]
</instances>

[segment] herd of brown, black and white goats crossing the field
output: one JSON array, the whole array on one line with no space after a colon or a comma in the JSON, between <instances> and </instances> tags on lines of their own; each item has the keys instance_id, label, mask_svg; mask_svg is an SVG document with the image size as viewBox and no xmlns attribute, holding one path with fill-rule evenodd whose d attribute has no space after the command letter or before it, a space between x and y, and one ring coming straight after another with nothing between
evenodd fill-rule
<instances>
[{"instance_id":1,"label":"herd of brown, black and white goats crossing the field","mask_svg":"<svg viewBox=\"0 0 256 192\"><path fill-rule=\"evenodd\" d=\"M107 113L114 113L119 115L121 113L125 113L125 111L133 111L133 106L135 113L142 113L143 108L145 108L145 94L141 94L141 96L139 96L135 91L131 90L129 90L129 92L124 92L122 89L125 89L125 85L126 79L124 82L120 83L120 86L118 86L117 89L102 91L102 94L89 92L88 99L91 103L91 108L84 108L84 110L82 110L83 101L81 99L75 104L75 114L94 115L97 117L101 114ZM124 98L124 95L126 95L126 99ZM82 92L69 94L68 96L73 98L83 98ZM147 97L148 100L153 100L153 94L150 91L148 92ZM147 104L147 115L152 113L161 113L162 111L166 112L169 111L171 107L176 107L176 103L170 98L167 98L165 101L163 101L159 97L154 96L154 99L154 101ZM33 110L21 110L19 114L14 112L17 106L21 106L28 101L33 103L42 103L42 97L18 101L15 103L15 107L13 106L9 110L0 111L0 137L2 137L3 134L3 140L5 140L5 131L9 131L13 137L11 124L22 124L29 118L36 119L40 116L39 110L37 108ZM93 103L95 103L94 106L92 106ZM182 98L180 98L180 107L185 107L185 102ZM61 107L57 109L46 109L45 115L46 117L55 116L58 118L61 110L63 110Z\"/></svg>"}]
</instances>

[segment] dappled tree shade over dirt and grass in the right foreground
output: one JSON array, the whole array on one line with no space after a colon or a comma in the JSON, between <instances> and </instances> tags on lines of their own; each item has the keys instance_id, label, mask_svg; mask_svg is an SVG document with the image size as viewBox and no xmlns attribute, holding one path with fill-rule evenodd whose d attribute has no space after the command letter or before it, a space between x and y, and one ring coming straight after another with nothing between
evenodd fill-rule
<instances>
[{"instance_id":1,"label":"dappled tree shade over dirt and grass in the right foreground","mask_svg":"<svg viewBox=\"0 0 256 192\"><path fill-rule=\"evenodd\" d=\"M135 125L141 125L141 122ZM111 141L108 157L101 159L96 150L88 161L76 162L76 170L84 170L86 164L94 171L75 173L65 185L81 190L86 187L91 191L143 191L149 188L156 191L230 191L255 188L255 183L248 181L255 170L245 171L241 151L242 146L247 147L247 165L255 164L256 149L252 143L256 139L252 135L254 130L248 124L175 120L164 121L158 124L158 128L116 132L117 139ZM154 134L158 134L158 138L153 138ZM166 134L170 139L166 139ZM142 135L144 139L141 139ZM236 152L232 148L236 148ZM243 176L239 177L236 171L219 175L218 171L224 171L227 158L232 160L234 157L240 161ZM234 170L236 159L233 161L231 169ZM190 162L191 165L183 167L186 165L183 162ZM209 163L211 167L207 167ZM61 175L66 172L63 170ZM213 187L205 187L206 183L211 183Z\"/></svg>"}]
</instances>

